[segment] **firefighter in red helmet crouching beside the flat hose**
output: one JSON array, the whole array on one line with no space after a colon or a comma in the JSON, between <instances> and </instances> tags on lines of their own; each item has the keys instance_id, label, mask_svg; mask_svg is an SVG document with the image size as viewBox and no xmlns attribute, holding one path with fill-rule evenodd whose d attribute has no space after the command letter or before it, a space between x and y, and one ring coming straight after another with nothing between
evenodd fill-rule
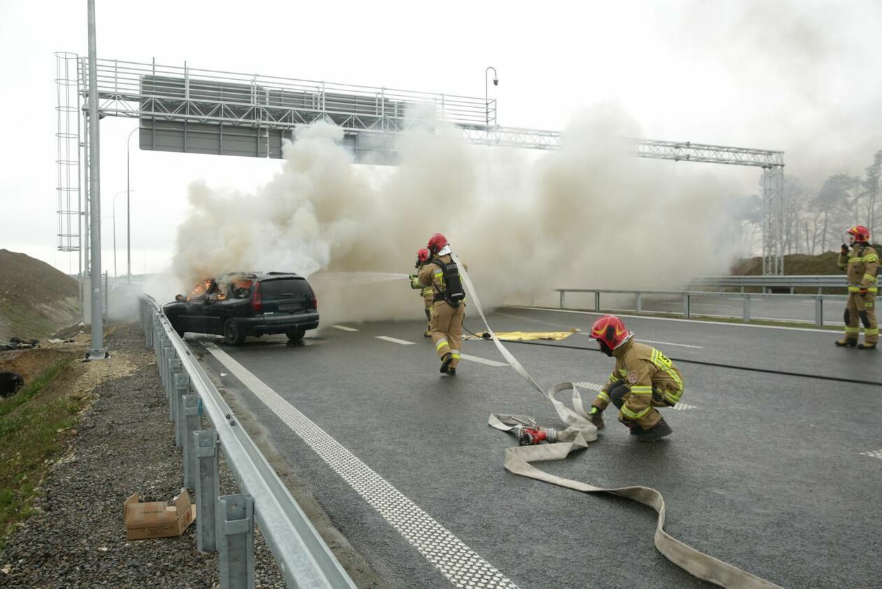
<instances>
[{"instance_id":1,"label":"firefighter in red helmet crouching beside the flat hose","mask_svg":"<svg viewBox=\"0 0 882 589\"><path fill-rule=\"evenodd\" d=\"M655 442L671 433L655 407L673 407L683 395L683 374L661 351L633 341L633 334L615 315L603 315L591 328L591 337L607 356L616 359L609 381L591 404L590 418L604 427L603 410L612 402L618 420L631 428L640 442Z\"/></svg>"}]
</instances>

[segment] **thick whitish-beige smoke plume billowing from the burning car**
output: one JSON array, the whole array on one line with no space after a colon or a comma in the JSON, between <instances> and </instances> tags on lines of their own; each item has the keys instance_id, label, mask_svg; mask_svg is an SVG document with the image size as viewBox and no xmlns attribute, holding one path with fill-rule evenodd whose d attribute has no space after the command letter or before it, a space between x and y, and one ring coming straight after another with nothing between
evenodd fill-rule
<instances>
[{"instance_id":1,"label":"thick whitish-beige smoke plume billowing from the burning car","mask_svg":"<svg viewBox=\"0 0 882 589\"><path fill-rule=\"evenodd\" d=\"M325 324L420 317L406 280L340 273L413 272L434 232L469 265L488 306L726 272L736 244L719 238L725 187L709 168L681 177L671 162L638 160L623 136L639 129L606 106L570 125L557 151L475 147L451 127L407 134L400 165L380 168L355 165L339 128L312 125L255 193L191 185L174 271L183 284L239 270L310 276Z\"/></svg>"}]
</instances>

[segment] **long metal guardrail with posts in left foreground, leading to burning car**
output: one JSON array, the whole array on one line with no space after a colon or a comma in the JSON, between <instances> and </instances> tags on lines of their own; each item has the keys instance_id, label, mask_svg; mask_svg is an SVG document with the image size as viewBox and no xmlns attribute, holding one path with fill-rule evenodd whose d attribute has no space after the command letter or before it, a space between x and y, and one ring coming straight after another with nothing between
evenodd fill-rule
<instances>
[{"instance_id":1,"label":"long metal guardrail with posts in left foreground, leading to burning car","mask_svg":"<svg viewBox=\"0 0 882 589\"><path fill-rule=\"evenodd\" d=\"M198 548L220 550L221 589L254 586L253 519L288 587L355 589L161 307L144 296L140 311L146 346L156 352L169 415L176 422L176 442L183 448L184 483L196 490ZM189 394L191 390L195 394ZM202 410L213 431L196 431ZM212 472L217 447L213 440L220 441L229 468L246 495L217 496L216 467Z\"/></svg>"}]
</instances>

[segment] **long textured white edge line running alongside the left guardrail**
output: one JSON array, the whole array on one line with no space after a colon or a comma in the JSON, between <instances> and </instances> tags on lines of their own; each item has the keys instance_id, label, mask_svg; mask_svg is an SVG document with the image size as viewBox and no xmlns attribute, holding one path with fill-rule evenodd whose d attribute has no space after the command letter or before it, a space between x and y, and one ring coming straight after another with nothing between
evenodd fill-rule
<instances>
[{"instance_id":1,"label":"long textured white edge line running alongside the left guardrail","mask_svg":"<svg viewBox=\"0 0 882 589\"><path fill-rule=\"evenodd\" d=\"M517 589L518 585L505 578L462 540L437 523L397 488L392 487L325 430L297 411L227 352L214 344L207 344L206 348L453 585Z\"/></svg>"}]
</instances>

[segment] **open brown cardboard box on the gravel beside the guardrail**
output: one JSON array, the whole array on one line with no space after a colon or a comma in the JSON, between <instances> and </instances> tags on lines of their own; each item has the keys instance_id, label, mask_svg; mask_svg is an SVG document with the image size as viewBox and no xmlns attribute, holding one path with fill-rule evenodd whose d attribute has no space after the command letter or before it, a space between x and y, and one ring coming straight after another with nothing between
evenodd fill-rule
<instances>
[{"instance_id":1,"label":"open brown cardboard box on the gravel beside the guardrail","mask_svg":"<svg viewBox=\"0 0 882 589\"><path fill-rule=\"evenodd\" d=\"M170 503L142 503L137 493L126 499L123 503L126 540L169 538L183 534L196 520L196 506L190 504L190 494L185 488Z\"/></svg>"}]
</instances>

